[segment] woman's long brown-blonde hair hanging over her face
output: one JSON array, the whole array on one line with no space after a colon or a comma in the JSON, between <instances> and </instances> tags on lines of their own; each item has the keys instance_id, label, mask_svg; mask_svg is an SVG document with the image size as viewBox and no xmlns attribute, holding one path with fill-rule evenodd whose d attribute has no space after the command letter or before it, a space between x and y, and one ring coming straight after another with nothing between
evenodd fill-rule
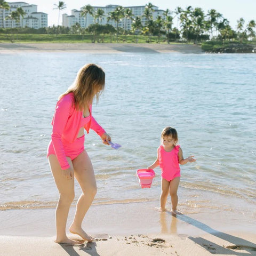
<instances>
[{"instance_id":1,"label":"woman's long brown-blonde hair hanging over her face","mask_svg":"<svg viewBox=\"0 0 256 256\"><path fill-rule=\"evenodd\" d=\"M75 107L77 110L83 110L85 106L90 105L96 96L97 102L99 95L105 87L105 72L101 67L95 64L87 64L79 69L74 83L68 90L61 94L59 99L70 92L74 93Z\"/></svg>"}]
</instances>

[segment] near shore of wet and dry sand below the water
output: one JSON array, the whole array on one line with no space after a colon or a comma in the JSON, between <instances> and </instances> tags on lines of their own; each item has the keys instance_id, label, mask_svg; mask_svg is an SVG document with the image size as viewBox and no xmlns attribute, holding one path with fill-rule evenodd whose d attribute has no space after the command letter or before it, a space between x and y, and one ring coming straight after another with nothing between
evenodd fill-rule
<instances>
[{"instance_id":1,"label":"near shore of wet and dry sand below the water","mask_svg":"<svg viewBox=\"0 0 256 256\"><path fill-rule=\"evenodd\" d=\"M34 255L256 255L253 220L233 211L159 213L158 202L92 205L83 228L95 241L79 246L54 243L55 209L1 211L0 254ZM70 209L68 225L74 216ZM252 223L250 223L252 222ZM68 229L68 228L67 228ZM78 236L69 234L79 239Z\"/></svg>"}]
</instances>

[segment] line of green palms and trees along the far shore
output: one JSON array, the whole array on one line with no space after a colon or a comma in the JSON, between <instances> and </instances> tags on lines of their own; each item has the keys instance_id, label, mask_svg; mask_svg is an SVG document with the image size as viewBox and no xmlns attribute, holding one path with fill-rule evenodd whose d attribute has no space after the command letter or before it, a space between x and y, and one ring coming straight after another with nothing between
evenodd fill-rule
<instances>
[{"instance_id":1,"label":"line of green palms and trees along the far shore","mask_svg":"<svg viewBox=\"0 0 256 256\"><path fill-rule=\"evenodd\" d=\"M209 39L221 41L239 40L243 42L255 38L256 24L254 20L245 24L245 20L240 18L237 20L236 28L233 29L229 25L229 21L214 9L205 13L200 7L193 8L188 6L186 9L177 7L174 11L166 9L162 16L158 15L153 19L154 6L151 3L146 4L142 17L135 17L131 9L124 8L123 6L117 6L114 11L109 12L107 17L105 17L103 9L95 11L93 6L88 4L81 10L81 16L86 21L87 15L90 14L93 17L94 23L87 28L82 28L79 23L68 28L59 26L60 12L66 9L65 2L59 1L54 6L55 9L59 10L58 26L39 29L38 32L42 34L91 34L92 42L98 41L99 36L104 38L104 35L107 34L113 35L113 39L116 41L118 41L118 36L121 34L125 37L126 35L144 35L148 38L147 42L149 43L153 36L157 38L157 41L164 38L167 43L171 41L198 43ZM0 0L0 9L8 9L8 4L4 0ZM11 12L8 19L18 22L20 17L25 15L25 13L22 13L23 10L21 9L21 11L20 9L18 8L16 11ZM101 25L102 19L105 18L107 18L107 22L114 22L115 27L109 23ZM142 22L142 18L145 18L145 22ZM177 21L175 25L174 19ZM128 20L132 21L130 30L127 29ZM123 21L123 27L119 27L120 21ZM7 29L4 30L6 31ZM18 30L21 33L25 33L25 31L37 33L36 29L25 28Z\"/></svg>"}]
</instances>

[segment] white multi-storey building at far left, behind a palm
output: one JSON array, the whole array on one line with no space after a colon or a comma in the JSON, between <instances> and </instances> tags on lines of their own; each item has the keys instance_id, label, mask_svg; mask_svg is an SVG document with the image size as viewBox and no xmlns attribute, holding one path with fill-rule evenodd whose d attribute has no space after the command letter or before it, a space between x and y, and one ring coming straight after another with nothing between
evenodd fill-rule
<instances>
[{"instance_id":1,"label":"white multi-storey building at far left, behind a palm","mask_svg":"<svg viewBox=\"0 0 256 256\"><path fill-rule=\"evenodd\" d=\"M10 6L9 10L0 9L0 28L29 27L38 29L48 27L48 14L37 12L37 5L25 2L7 2L7 4ZM20 17L19 22L8 19L7 17L11 12L16 11L18 7L21 7L26 12L24 17Z\"/></svg>"}]
</instances>

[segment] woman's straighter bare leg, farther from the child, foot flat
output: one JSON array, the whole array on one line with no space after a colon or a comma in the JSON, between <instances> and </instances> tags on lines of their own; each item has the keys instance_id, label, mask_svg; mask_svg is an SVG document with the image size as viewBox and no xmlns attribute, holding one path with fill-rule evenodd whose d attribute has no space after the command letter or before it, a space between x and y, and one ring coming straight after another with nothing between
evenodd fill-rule
<instances>
[{"instance_id":1,"label":"woman's straighter bare leg, farther from the child, foot flat","mask_svg":"<svg viewBox=\"0 0 256 256\"><path fill-rule=\"evenodd\" d=\"M71 159L67 157L69 165L72 166ZM69 239L66 235L66 224L70 205L74 199L74 173L73 178L68 180L62 175L59 161L55 155L50 155L48 161L52 175L59 190L59 201L57 204L56 218L56 243L78 244L79 242Z\"/></svg>"}]
</instances>

